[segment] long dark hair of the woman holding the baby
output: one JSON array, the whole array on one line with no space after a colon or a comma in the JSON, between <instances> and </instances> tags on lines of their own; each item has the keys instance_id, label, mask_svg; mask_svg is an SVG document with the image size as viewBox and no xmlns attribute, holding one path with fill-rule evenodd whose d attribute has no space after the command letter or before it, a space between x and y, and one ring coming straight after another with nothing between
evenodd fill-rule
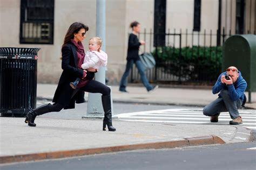
<instances>
[{"instance_id":1,"label":"long dark hair of the woman holding the baby","mask_svg":"<svg viewBox=\"0 0 256 170\"><path fill-rule=\"evenodd\" d=\"M83 23L73 23L70 25L69 30L66 32L66 36L64 38L64 43L62 47L67 44L71 39L74 38L74 33L78 33L80 29L85 29L85 32L89 30L89 27L87 25L84 25Z\"/></svg>"}]
</instances>

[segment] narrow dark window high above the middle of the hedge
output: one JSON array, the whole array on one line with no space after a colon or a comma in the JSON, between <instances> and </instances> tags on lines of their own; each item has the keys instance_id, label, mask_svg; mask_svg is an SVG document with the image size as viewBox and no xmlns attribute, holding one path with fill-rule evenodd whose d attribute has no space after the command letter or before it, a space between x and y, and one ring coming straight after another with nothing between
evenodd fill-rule
<instances>
[{"instance_id":1,"label":"narrow dark window high above the middle of the hedge","mask_svg":"<svg viewBox=\"0 0 256 170\"><path fill-rule=\"evenodd\" d=\"M193 31L200 31L200 25L201 25L201 0L194 0Z\"/></svg>"}]
</instances>

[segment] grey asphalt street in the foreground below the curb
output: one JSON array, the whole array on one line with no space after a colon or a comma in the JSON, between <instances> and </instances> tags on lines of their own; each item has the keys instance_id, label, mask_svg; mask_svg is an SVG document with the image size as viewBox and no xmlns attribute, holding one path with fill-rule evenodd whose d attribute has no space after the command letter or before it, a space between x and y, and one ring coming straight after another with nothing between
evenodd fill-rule
<instances>
[{"instance_id":1,"label":"grey asphalt street in the foreground below the curb","mask_svg":"<svg viewBox=\"0 0 256 170\"><path fill-rule=\"evenodd\" d=\"M255 169L256 143L137 150L85 157L23 162L2 170L43 169Z\"/></svg>"}]
</instances>

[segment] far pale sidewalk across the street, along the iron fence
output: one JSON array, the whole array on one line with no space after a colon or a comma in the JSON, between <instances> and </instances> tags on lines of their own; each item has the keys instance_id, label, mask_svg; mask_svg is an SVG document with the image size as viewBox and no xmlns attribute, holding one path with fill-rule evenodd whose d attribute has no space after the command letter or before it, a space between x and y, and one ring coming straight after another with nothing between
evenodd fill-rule
<instances>
[{"instance_id":1,"label":"far pale sidewalk across the street, along the iron fence","mask_svg":"<svg viewBox=\"0 0 256 170\"><path fill-rule=\"evenodd\" d=\"M52 100L57 84L38 84L38 98ZM128 86L129 93L121 93L118 86L111 86L113 102L125 103L151 103L204 107L215 100L218 95L213 95L211 89L185 89L185 88L161 88L153 93L147 93L144 87ZM245 93L248 100L248 92ZM88 93L85 93L87 100ZM252 103L246 103L246 108L256 109L256 92L252 92Z\"/></svg>"}]
</instances>

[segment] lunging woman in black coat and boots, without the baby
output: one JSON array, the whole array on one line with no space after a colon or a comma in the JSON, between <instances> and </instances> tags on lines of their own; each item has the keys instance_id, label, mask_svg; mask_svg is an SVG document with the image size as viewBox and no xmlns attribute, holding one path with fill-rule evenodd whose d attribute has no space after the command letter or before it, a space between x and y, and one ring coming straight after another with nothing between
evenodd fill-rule
<instances>
[{"instance_id":1,"label":"lunging woman in black coat and boots, without the baby","mask_svg":"<svg viewBox=\"0 0 256 170\"><path fill-rule=\"evenodd\" d=\"M25 123L28 123L29 126L36 126L34 123L36 116L52 111L60 111L63 108L75 108L75 101L78 102L78 97L81 96L81 93L86 91L89 93L102 94L102 105L105 112L103 130L106 130L107 125L109 131L116 131L112 126L110 88L103 83L92 80L95 72L97 72L96 69L89 68L86 71L81 68L85 56L82 41L88 30L88 26L82 23L76 22L70 25L62 45L63 72L52 100L54 104L49 103L30 110L25 119ZM77 89L74 90L70 87L70 82L75 81L77 77L80 77L82 81L77 84Z\"/></svg>"}]
</instances>

